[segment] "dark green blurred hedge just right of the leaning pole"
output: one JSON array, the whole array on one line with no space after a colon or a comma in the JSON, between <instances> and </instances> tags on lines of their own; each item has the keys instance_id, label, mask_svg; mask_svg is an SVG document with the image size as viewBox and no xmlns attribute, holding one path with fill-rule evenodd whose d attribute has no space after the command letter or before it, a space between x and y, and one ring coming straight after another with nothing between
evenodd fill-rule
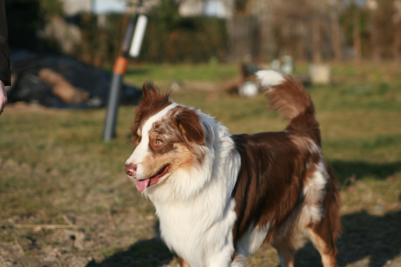
<instances>
[{"instance_id":1,"label":"dark green blurred hedge just right of the leaning pole","mask_svg":"<svg viewBox=\"0 0 401 267\"><path fill-rule=\"evenodd\" d=\"M166 26L164 20L152 16L140 59L157 63L224 61L226 40L226 24L221 19L180 18Z\"/></svg>"}]
</instances>

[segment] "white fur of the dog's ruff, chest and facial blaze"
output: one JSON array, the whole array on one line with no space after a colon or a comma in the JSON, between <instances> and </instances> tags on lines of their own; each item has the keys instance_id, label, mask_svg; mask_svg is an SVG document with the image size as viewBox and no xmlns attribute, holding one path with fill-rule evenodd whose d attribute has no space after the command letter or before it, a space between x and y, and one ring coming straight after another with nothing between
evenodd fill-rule
<instances>
[{"instance_id":1,"label":"white fur of the dog's ruff, chest and facial blaze","mask_svg":"<svg viewBox=\"0 0 401 267\"><path fill-rule=\"evenodd\" d=\"M148 125L162 120L169 107L145 122L139 150L135 149L127 163L135 163L132 160L146 152L148 137L144 136L150 130ZM237 218L231 194L241 159L227 128L197 112L207 133L202 164L194 164L189 170L178 169L143 193L156 207L161 237L170 249L193 267L230 266L234 253L232 229Z\"/></svg>"}]
</instances>

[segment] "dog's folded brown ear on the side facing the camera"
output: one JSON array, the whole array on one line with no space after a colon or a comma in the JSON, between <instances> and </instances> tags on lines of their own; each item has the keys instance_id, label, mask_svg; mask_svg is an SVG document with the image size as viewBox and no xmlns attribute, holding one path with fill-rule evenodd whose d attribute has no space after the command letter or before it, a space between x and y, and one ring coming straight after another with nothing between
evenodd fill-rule
<instances>
[{"instance_id":1,"label":"dog's folded brown ear on the side facing the camera","mask_svg":"<svg viewBox=\"0 0 401 267\"><path fill-rule=\"evenodd\" d=\"M205 143L205 133L200 125L200 117L195 111L185 109L175 115L175 121L182 136L186 139L202 145Z\"/></svg>"}]
</instances>

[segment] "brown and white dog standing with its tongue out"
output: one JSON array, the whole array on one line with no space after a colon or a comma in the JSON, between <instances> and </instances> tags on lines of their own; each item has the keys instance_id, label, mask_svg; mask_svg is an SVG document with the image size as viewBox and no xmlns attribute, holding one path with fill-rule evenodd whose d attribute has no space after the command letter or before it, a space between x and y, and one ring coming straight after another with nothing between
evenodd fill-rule
<instances>
[{"instance_id":1,"label":"brown and white dog standing with its tongue out","mask_svg":"<svg viewBox=\"0 0 401 267\"><path fill-rule=\"evenodd\" d=\"M243 266L263 242L293 266L304 236L324 266L336 266L339 196L310 95L277 72L257 77L290 121L284 131L233 135L144 86L124 170L155 205L181 266Z\"/></svg>"}]
</instances>

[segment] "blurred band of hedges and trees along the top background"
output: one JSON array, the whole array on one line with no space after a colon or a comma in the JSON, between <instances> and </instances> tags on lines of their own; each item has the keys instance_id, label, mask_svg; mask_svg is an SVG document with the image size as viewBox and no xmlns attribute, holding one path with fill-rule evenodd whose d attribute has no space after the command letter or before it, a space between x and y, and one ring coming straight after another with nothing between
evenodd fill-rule
<instances>
[{"instance_id":1,"label":"blurred band of hedges and trees along the top background","mask_svg":"<svg viewBox=\"0 0 401 267\"><path fill-rule=\"evenodd\" d=\"M256 6L250 3L257 1L237 3L238 14L233 20L254 16L259 23L255 29L247 31L257 34L255 42L259 42L256 46L259 51L254 57L260 61L284 55L291 55L295 60L338 60L352 58L355 53L364 59L400 60L401 22L398 17L401 14L396 0L377 1L374 10L361 5L360 1L294 1L291 5L287 1L261 2L263 9L256 11ZM149 25L139 60L153 63L227 61L231 53L228 44L232 42L232 33L228 32L230 21L212 17L183 18L178 13L180 3L162 0L147 14ZM126 24L121 14L81 13L66 17L60 0L8 0L7 10L13 48L61 53L63 40L38 34L52 18L61 17L67 25L76 26L81 32L81 41L68 52L70 56L105 67L113 64L119 53ZM333 27L339 29L337 35ZM313 41L315 37L317 41ZM334 53L337 46L341 55Z\"/></svg>"}]
</instances>

